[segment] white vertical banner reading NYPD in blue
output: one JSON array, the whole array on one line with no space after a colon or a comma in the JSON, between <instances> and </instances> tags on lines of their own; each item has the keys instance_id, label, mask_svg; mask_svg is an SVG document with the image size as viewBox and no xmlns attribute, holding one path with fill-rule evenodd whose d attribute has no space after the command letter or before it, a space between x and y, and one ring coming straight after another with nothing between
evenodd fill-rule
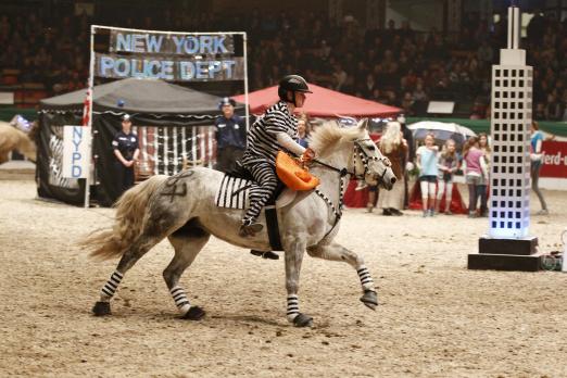
<instances>
[{"instance_id":1,"label":"white vertical banner reading NYPD in blue","mask_svg":"<svg viewBox=\"0 0 567 378\"><path fill-rule=\"evenodd\" d=\"M87 178L90 127L63 127L63 177Z\"/></svg>"}]
</instances>

